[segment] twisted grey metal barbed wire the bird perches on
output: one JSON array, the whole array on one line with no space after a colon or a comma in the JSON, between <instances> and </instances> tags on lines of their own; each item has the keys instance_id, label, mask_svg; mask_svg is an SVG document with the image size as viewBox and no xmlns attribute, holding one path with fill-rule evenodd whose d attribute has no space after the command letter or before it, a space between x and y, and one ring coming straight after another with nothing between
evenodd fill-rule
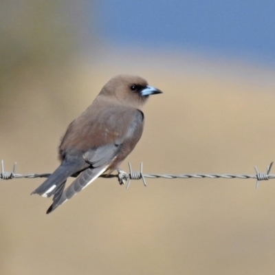
<instances>
[{"instance_id":1,"label":"twisted grey metal barbed wire the bird perches on","mask_svg":"<svg viewBox=\"0 0 275 275\"><path fill-rule=\"evenodd\" d=\"M173 175L173 174L144 174L143 173L143 164L140 164L140 171L133 171L131 167L131 163L129 162L129 173L124 172L121 169L117 169L118 174L117 175L100 175L100 177L104 177L105 179L110 179L113 177L118 178L118 182L120 184L127 184L126 189L129 188L131 180L132 179L142 179L142 182L144 186L147 186L145 178L149 179L256 179L256 188L259 188L259 181L262 180L268 180L268 179L275 179L275 175L270 175L270 170L272 168L273 162L269 166L267 166L267 172L266 173L259 173L259 170L254 167L256 174L255 175L233 175L233 174L179 174L179 175ZM0 181L1 179L20 179L20 178L28 178L28 179L34 179L37 177L50 177L50 173L44 173L44 174L25 174L21 175L18 173L15 173L15 169L17 166L17 162L14 162L12 172L5 171L4 169L4 162L3 159L1 161L1 173L0 173Z\"/></svg>"}]
</instances>

